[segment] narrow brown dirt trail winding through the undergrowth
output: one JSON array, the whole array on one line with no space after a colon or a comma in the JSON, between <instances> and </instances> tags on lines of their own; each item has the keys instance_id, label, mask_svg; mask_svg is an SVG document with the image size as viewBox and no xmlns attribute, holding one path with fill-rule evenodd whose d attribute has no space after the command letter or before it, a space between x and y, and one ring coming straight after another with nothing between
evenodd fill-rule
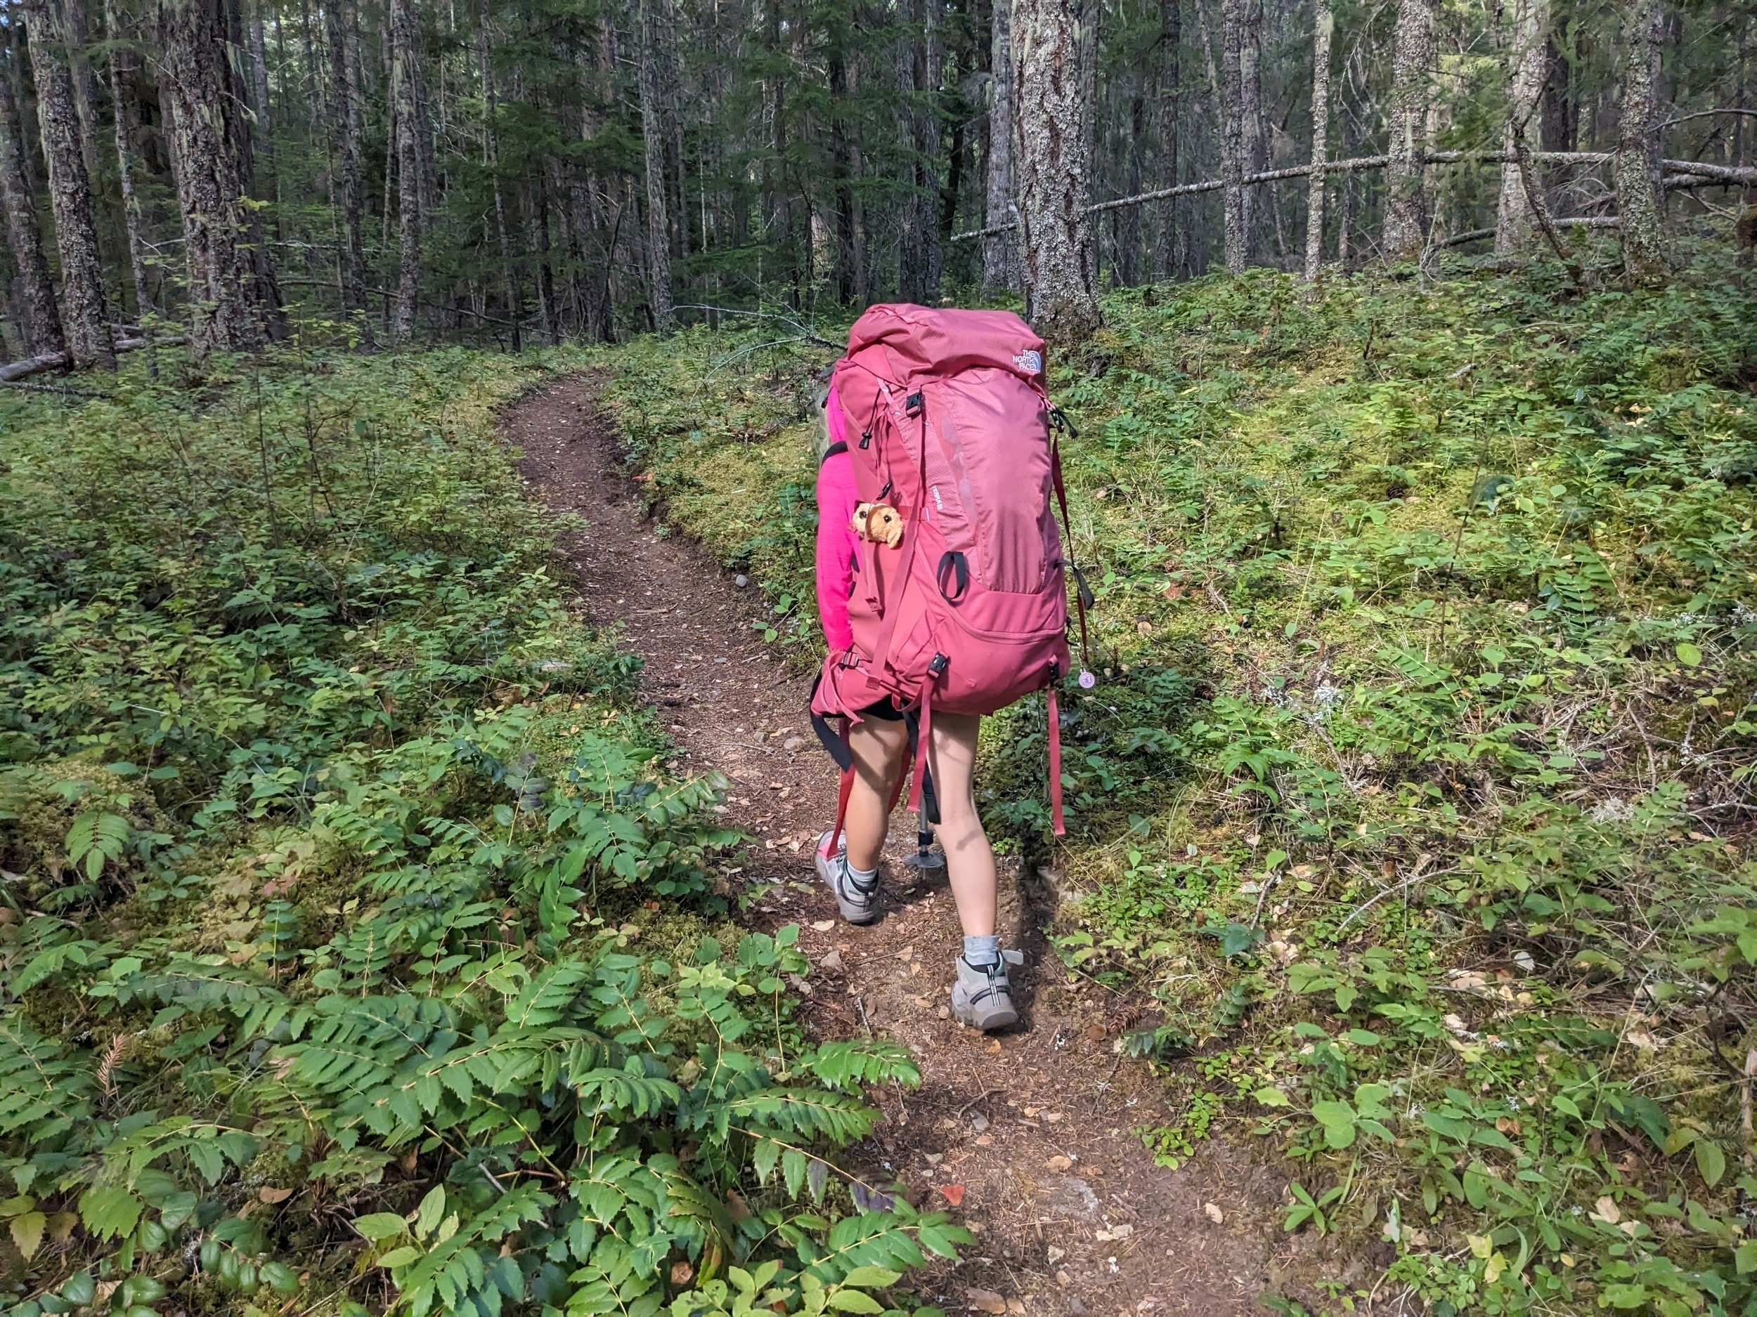
<instances>
[{"instance_id":1,"label":"narrow brown dirt trail winding through the undergrowth","mask_svg":"<svg viewBox=\"0 0 1757 1317\"><path fill-rule=\"evenodd\" d=\"M654 534L596 383L571 378L504 413L532 492L580 513L587 532L564 544L580 601L596 623L620 622L645 658L643 699L657 708L691 771L731 783L727 818L747 829L743 882L773 883L764 927L798 922L813 962L808 1027L847 1038L864 1029L905 1043L922 1087L873 1092L884 1120L845 1161L870 1180L898 1180L912 1203L956 1215L977 1245L938 1264L922 1289L947 1312L1117 1317L1260 1313L1258 1296L1307 1301L1332 1280L1355 1289L1374 1271L1309 1236L1281 1231L1284 1169L1218 1141L1181 1169L1154 1166L1137 1131L1170 1113L1160 1083L1112 1048L1128 1024L1121 999L1066 975L1040 929L1052 883L1021 885L1001 869L1001 934L1023 946L1021 1024L982 1036L945 1018L959 927L944 869L917 882L900 864L914 817L893 818L884 917L833 922L812 848L835 817L836 771L806 715L810 681L784 669L752 630L756 587L687 543Z\"/></svg>"}]
</instances>

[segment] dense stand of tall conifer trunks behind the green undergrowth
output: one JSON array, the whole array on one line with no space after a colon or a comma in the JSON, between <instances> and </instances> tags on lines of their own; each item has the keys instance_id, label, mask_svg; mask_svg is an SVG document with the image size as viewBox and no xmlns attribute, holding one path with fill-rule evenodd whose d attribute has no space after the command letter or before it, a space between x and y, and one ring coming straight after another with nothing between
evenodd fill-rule
<instances>
[{"instance_id":1,"label":"dense stand of tall conifer trunks behind the green undergrowth","mask_svg":"<svg viewBox=\"0 0 1757 1317\"><path fill-rule=\"evenodd\" d=\"M1731 2L30 0L5 19L14 358L65 330L107 362L192 307L199 348L288 314L518 348L764 302L1042 304L1049 216L1086 320L1103 286L1219 262L1316 276L1560 251L1583 227L1622 225L1652 272L1660 209L1727 228L1757 179L1753 16Z\"/></svg>"}]
</instances>

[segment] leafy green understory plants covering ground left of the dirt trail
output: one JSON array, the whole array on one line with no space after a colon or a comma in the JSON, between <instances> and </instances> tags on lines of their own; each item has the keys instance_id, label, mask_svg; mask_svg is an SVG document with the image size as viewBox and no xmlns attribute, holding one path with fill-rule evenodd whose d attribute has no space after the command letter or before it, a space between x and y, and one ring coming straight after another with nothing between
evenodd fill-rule
<instances>
[{"instance_id":1,"label":"leafy green understory plants covering ground left of the dirt trail","mask_svg":"<svg viewBox=\"0 0 1757 1317\"><path fill-rule=\"evenodd\" d=\"M529 365L209 371L0 400L5 1312L893 1306L968 1236L829 1154L919 1076L724 920Z\"/></svg>"}]
</instances>

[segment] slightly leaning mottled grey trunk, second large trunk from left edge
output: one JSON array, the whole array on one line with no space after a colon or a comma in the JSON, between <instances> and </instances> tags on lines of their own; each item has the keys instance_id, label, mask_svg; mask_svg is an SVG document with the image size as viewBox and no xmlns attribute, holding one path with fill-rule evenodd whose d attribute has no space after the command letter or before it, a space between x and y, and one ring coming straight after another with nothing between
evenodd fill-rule
<instances>
[{"instance_id":1,"label":"slightly leaning mottled grey trunk, second large trunk from left edge","mask_svg":"<svg viewBox=\"0 0 1757 1317\"><path fill-rule=\"evenodd\" d=\"M61 255L61 327L67 332L67 349L74 365L114 371L116 341L104 297L104 260L91 218L91 176L86 174L81 148L65 32L58 30L49 12L49 0L26 0L25 21L37 81L42 155L49 165L54 246Z\"/></svg>"}]
</instances>

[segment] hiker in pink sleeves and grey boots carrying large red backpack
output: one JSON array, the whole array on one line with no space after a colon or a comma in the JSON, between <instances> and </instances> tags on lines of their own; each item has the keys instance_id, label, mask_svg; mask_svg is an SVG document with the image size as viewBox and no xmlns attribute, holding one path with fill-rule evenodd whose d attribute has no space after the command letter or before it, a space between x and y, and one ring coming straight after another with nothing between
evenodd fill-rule
<instances>
[{"instance_id":1,"label":"hiker in pink sleeves and grey boots carrying large red backpack","mask_svg":"<svg viewBox=\"0 0 1757 1317\"><path fill-rule=\"evenodd\" d=\"M1023 957L994 925L975 760L982 715L1035 690L1047 694L1051 824L1063 832L1056 688L1074 564L1051 497L1066 522L1056 430L1068 427L1044 390L1042 339L1003 311L871 307L833 369L824 427L817 611L829 653L812 722L842 792L817 871L845 920L880 917L880 852L908 778L965 932L952 1018L1005 1029L1019 1018L1009 968ZM1084 641L1084 583L1077 601Z\"/></svg>"}]
</instances>

